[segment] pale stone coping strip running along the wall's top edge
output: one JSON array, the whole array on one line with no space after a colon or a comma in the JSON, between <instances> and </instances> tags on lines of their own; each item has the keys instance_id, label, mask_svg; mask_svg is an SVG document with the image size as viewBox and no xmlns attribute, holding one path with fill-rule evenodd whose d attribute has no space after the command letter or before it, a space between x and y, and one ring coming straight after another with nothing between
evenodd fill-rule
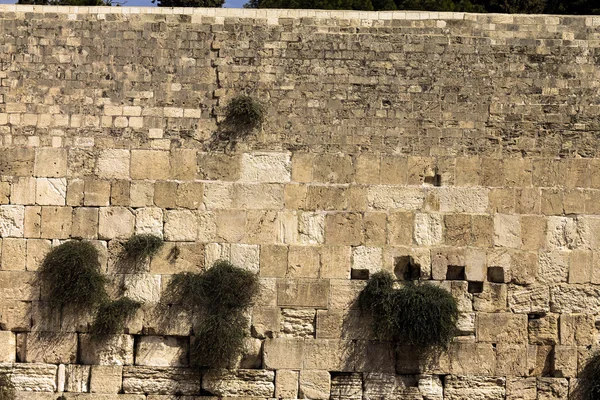
<instances>
[{"instance_id":1,"label":"pale stone coping strip running along the wall's top edge","mask_svg":"<svg viewBox=\"0 0 600 400\"><path fill-rule=\"evenodd\" d=\"M598 26L600 16L544 15L544 14L476 14L462 12L429 11L345 11L345 10L300 10L300 9L245 9L245 8L185 8L185 7L74 7L40 6L20 4L0 4L1 13L60 13L60 14L165 14L197 15L205 17L234 18L338 18L360 20L472 20L492 23L530 23L559 24L560 18L585 19L587 26ZM517 20L515 20L517 19Z\"/></svg>"}]
</instances>

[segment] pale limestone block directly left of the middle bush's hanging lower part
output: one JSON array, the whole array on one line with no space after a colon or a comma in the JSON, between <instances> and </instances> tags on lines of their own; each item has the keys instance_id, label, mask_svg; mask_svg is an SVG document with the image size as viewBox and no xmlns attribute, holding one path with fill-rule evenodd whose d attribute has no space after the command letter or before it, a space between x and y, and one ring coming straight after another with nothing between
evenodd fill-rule
<instances>
[{"instance_id":1,"label":"pale limestone block directly left of the middle bush's hanging lower part","mask_svg":"<svg viewBox=\"0 0 600 400\"><path fill-rule=\"evenodd\" d=\"M189 341L174 336L142 336L136 343L136 365L187 366Z\"/></svg>"}]
</instances>

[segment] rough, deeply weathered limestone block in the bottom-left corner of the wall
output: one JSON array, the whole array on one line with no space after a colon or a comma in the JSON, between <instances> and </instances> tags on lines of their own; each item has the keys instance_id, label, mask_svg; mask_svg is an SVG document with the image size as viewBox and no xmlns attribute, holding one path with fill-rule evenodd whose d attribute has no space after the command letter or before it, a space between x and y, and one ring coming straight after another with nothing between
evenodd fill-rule
<instances>
[{"instance_id":1,"label":"rough, deeply weathered limestone block in the bottom-left corner of the wall","mask_svg":"<svg viewBox=\"0 0 600 400\"><path fill-rule=\"evenodd\" d=\"M56 391L57 370L58 367L51 364L16 363L0 365L0 373L11 375L11 381L15 385L15 389L28 394Z\"/></svg>"}]
</instances>

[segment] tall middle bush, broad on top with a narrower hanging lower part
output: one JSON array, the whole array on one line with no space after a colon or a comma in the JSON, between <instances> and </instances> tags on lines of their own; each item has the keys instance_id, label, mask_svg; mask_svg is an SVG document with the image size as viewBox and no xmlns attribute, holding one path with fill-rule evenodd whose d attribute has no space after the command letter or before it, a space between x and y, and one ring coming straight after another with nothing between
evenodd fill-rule
<instances>
[{"instance_id":1,"label":"tall middle bush, broad on top with a narrower hanging lower part","mask_svg":"<svg viewBox=\"0 0 600 400\"><path fill-rule=\"evenodd\" d=\"M204 273L173 276L167 287L172 301L199 318L199 331L190 349L192 365L227 367L242 351L244 315L259 289L258 277L227 261L217 261Z\"/></svg>"}]
</instances>

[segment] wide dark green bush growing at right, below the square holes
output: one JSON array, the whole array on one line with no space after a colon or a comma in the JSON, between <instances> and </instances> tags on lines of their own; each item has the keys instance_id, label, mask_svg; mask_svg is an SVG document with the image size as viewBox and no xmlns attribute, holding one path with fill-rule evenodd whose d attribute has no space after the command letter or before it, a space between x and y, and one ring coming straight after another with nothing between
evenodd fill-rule
<instances>
[{"instance_id":1,"label":"wide dark green bush growing at right, below the square holes","mask_svg":"<svg viewBox=\"0 0 600 400\"><path fill-rule=\"evenodd\" d=\"M373 316L378 338L427 349L446 348L456 334L456 300L430 284L408 283L395 289L392 275L378 272L360 293L358 306Z\"/></svg>"}]
</instances>

